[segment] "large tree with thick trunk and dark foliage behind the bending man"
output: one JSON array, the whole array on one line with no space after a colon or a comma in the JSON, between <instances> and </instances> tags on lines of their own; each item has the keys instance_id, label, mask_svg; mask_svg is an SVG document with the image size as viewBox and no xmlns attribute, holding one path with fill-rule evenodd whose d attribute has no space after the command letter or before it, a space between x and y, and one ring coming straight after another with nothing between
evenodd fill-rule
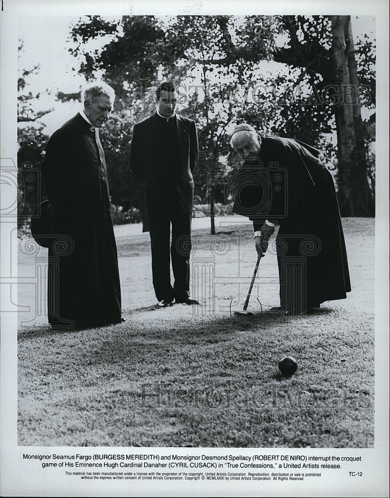
<instances>
[{"instance_id":1,"label":"large tree with thick trunk and dark foliage behind the bending man","mask_svg":"<svg viewBox=\"0 0 390 498\"><path fill-rule=\"evenodd\" d=\"M292 77L281 131L316 146L336 131L341 212L373 215L372 162L360 110L375 107L374 45L368 38L361 42L356 60L350 16L283 16L283 23L289 41L275 60L287 64Z\"/></svg>"}]
</instances>

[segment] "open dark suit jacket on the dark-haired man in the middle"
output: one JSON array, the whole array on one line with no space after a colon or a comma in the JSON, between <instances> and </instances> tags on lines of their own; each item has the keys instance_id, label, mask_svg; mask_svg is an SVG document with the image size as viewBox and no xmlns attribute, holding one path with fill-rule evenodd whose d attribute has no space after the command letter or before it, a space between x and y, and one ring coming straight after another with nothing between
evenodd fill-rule
<instances>
[{"instance_id":1,"label":"open dark suit jacket on the dark-haired man in the middle","mask_svg":"<svg viewBox=\"0 0 390 498\"><path fill-rule=\"evenodd\" d=\"M158 202L158 189L174 179L180 209L192 211L194 203L194 179L192 173L199 154L198 135L195 122L176 115L177 136L172 176L169 178L161 167L161 151L157 146L158 120L155 113L134 125L130 147L130 167L144 184L148 202Z\"/></svg>"}]
</instances>

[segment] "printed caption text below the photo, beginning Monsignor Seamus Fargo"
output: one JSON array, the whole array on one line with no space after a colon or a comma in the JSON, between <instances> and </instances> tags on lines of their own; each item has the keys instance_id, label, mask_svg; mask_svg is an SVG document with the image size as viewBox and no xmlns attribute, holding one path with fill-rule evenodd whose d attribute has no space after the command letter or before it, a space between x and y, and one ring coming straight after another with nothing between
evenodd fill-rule
<instances>
[{"instance_id":1,"label":"printed caption text below the photo, beginning Monsignor Seamus Fargo","mask_svg":"<svg viewBox=\"0 0 390 498\"><path fill-rule=\"evenodd\" d=\"M337 472L363 477L361 456L23 454L37 468L59 469L67 478L90 481L304 481Z\"/></svg>"}]
</instances>

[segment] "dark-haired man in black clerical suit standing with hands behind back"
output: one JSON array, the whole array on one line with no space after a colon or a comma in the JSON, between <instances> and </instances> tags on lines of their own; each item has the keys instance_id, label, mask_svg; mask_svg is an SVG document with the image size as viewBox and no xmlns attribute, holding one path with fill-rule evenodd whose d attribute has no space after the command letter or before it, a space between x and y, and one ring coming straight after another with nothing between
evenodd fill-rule
<instances>
[{"instance_id":1,"label":"dark-haired man in black clerical suit standing with hands behind back","mask_svg":"<svg viewBox=\"0 0 390 498\"><path fill-rule=\"evenodd\" d=\"M192 173L198 160L198 136L194 121L175 114L176 103L173 83L160 83L156 89L156 113L134 125L130 147L130 167L145 188L153 286L160 307L171 306L173 299L176 303L197 304L190 299L189 261Z\"/></svg>"}]
</instances>

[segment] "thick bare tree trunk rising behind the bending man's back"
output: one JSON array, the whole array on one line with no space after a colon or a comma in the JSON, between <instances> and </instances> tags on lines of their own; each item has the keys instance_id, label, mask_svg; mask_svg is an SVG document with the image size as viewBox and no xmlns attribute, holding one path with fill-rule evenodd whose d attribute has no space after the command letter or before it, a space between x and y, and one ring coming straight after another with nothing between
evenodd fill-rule
<instances>
[{"instance_id":1,"label":"thick bare tree trunk rising behind the bending man's back","mask_svg":"<svg viewBox=\"0 0 390 498\"><path fill-rule=\"evenodd\" d=\"M373 216L351 17L333 15L330 19L335 83L341 94L335 106L340 211L342 216Z\"/></svg>"}]
</instances>

